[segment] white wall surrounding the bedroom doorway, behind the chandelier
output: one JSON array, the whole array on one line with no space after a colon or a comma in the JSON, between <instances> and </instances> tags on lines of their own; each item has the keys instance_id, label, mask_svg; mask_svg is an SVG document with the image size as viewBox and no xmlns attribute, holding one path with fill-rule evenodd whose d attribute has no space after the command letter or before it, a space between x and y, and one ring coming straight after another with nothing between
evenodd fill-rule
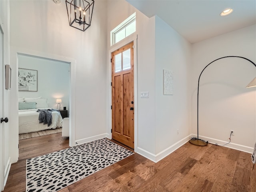
<instances>
[{"instance_id":1,"label":"white wall surrounding the bedroom doorway, behind the chandelier","mask_svg":"<svg viewBox=\"0 0 256 192\"><path fill-rule=\"evenodd\" d=\"M74 60L75 140L78 144L106 133L106 1L96 1L92 25L85 32L68 24L65 1L10 2L11 63L17 74L17 52ZM17 78L13 78L17 82ZM17 84L11 92L12 138L18 146ZM15 148L12 148L15 151ZM18 160L14 155L14 160Z\"/></svg>"}]
</instances>

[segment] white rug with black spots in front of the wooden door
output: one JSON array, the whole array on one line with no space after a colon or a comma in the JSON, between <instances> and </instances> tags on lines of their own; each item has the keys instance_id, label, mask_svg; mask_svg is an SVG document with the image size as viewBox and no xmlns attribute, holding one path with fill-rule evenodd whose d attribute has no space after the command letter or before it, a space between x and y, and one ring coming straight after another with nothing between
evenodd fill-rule
<instances>
[{"instance_id":1,"label":"white rug with black spots in front of the wooden door","mask_svg":"<svg viewBox=\"0 0 256 192\"><path fill-rule=\"evenodd\" d=\"M26 192L54 192L130 155L132 151L102 138L26 160Z\"/></svg>"}]
</instances>

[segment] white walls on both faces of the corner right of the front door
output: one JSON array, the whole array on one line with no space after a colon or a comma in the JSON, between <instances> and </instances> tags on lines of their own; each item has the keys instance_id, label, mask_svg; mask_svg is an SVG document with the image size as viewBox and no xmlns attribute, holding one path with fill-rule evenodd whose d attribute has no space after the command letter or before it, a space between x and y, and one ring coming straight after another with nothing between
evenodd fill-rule
<instances>
[{"instance_id":1,"label":"white walls on both faces of the corner right of the front door","mask_svg":"<svg viewBox=\"0 0 256 192\"><path fill-rule=\"evenodd\" d=\"M188 140L187 75L191 45L158 16L148 18L124 0L108 2L107 45L110 44L110 31L134 12L138 34L135 82L138 89L135 96L138 98L138 131L135 133L138 148L135 150L158 161ZM173 96L163 95L163 69L174 71L176 88ZM149 98L140 98L140 92L146 91Z\"/></svg>"}]
</instances>

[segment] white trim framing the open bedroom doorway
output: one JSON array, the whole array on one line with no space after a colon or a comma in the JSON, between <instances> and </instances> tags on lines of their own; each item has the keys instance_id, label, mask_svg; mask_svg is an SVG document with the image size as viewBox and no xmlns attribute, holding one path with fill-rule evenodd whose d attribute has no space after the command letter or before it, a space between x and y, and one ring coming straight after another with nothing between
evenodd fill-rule
<instances>
[{"instance_id":1,"label":"white trim framing the open bedroom doorway","mask_svg":"<svg viewBox=\"0 0 256 192\"><path fill-rule=\"evenodd\" d=\"M70 80L70 84L69 84L69 90L70 90L70 95L69 95L69 112L70 112L70 121L69 121L69 146L75 146L75 66L76 66L76 60L73 58L67 58L64 56L58 56L58 55L53 55L53 54L48 54L48 53L42 53L42 52L36 52L36 51L32 51L32 50L15 50L14 52L12 52L14 54L16 54L16 56L14 56L14 58L16 59L16 61L14 61L16 63L16 77L13 79L14 81L16 81L16 125L15 126L15 131L14 134L18 134L18 81L17 81L17 77L18 77L18 55L24 55L24 56L32 56L32 57L36 57L36 58L42 58L42 59L48 59L48 60L52 60L52 61L58 61L58 62L65 62L70 64L70 76L69 76L69 80ZM12 54L11 53L11 54ZM14 72L14 76L15 76L15 72ZM15 88L15 87L14 87ZM13 157L13 162L17 162L18 161L18 156L19 156L19 149L18 149L18 135L14 137L14 139L16 140L17 145L15 145L15 156ZM13 148L14 149L14 148Z\"/></svg>"}]
</instances>

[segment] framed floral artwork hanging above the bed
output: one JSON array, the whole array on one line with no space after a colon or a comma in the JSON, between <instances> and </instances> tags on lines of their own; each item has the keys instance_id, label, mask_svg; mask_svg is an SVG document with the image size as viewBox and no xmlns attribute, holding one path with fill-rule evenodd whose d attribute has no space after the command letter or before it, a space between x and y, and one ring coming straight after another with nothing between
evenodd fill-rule
<instances>
[{"instance_id":1,"label":"framed floral artwork hanging above the bed","mask_svg":"<svg viewBox=\"0 0 256 192\"><path fill-rule=\"evenodd\" d=\"M37 70L18 68L19 91L37 91Z\"/></svg>"}]
</instances>

